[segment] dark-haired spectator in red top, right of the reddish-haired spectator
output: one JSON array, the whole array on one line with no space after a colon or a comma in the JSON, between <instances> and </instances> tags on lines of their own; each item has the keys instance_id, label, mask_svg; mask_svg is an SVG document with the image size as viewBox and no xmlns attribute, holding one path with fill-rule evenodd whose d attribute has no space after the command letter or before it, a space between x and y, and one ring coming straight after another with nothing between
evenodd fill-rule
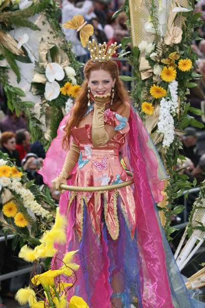
<instances>
[{"instance_id":1,"label":"dark-haired spectator in red top, right of the reddish-haired spectator","mask_svg":"<svg viewBox=\"0 0 205 308\"><path fill-rule=\"evenodd\" d=\"M23 158L27 155L29 151L30 139L31 139L31 135L27 129L22 128L22 129L16 130L16 150L18 151L21 161L23 160Z\"/></svg>"}]
</instances>

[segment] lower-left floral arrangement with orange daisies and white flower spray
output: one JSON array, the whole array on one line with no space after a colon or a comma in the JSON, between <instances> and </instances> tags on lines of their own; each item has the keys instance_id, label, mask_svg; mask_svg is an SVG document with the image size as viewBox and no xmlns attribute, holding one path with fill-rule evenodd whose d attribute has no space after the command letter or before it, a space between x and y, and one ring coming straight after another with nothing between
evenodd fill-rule
<instances>
[{"instance_id":1,"label":"lower-left floral arrangement with orange daisies and white flower spray","mask_svg":"<svg viewBox=\"0 0 205 308\"><path fill-rule=\"evenodd\" d=\"M13 234L13 249L20 242L31 245L39 243L43 231L54 221L56 205L50 197L49 189L28 181L23 168L16 167L8 155L0 152L0 221L5 232Z\"/></svg>"}]
</instances>

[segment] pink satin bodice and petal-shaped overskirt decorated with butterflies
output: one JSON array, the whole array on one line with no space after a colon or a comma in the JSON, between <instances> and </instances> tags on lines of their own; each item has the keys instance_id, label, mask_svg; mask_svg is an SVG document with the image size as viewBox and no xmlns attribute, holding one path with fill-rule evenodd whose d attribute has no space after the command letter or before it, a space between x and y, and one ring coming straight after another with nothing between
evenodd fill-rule
<instances>
[{"instance_id":1,"label":"pink satin bodice and petal-shaped overskirt decorated with butterflies","mask_svg":"<svg viewBox=\"0 0 205 308\"><path fill-rule=\"evenodd\" d=\"M94 148L92 145L90 124L84 127L74 127L71 131L74 141L80 149L80 157L74 175L74 186L104 186L127 181L125 169L119 158L119 149L125 144L125 136L129 131L127 119L116 112L105 111L105 124L112 125L116 135L106 145ZM113 239L119 235L117 216L117 197L121 197L121 208L128 215L132 224L131 235L136 227L136 210L131 186L120 189L96 192L72 192L69 194L69 207L76 197L76 230L81 240L83 232L84 202L92 219L95 232L100 237L100 221L104 210L106 224ZM104 206L104 208L103 208Z\"/></svg>"}]
</instances>

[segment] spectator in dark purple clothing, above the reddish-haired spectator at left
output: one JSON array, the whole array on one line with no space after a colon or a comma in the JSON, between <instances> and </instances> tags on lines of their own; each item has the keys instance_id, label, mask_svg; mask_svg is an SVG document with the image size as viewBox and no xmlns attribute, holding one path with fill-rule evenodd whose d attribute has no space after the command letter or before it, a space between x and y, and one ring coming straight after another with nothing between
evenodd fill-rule
<instances>
[{"instance_id":1,"label":"spectator in dark purple clothing, above the reddish-haired spectator at left","mask_svg":"<svg viewBox=\"0 0 205 308\"><path fill-rule=\"evenodd\" d=\"M7 109L7 114L5 118L0 123L0 130L2 132L4 131L12 131L16 132L16 130L20 128L26 128L27 124L25 120L22 118L22 112L19 114L19 117L17 117L15 111L11 111L9 108Z\"/></svg>"}]
</instances>

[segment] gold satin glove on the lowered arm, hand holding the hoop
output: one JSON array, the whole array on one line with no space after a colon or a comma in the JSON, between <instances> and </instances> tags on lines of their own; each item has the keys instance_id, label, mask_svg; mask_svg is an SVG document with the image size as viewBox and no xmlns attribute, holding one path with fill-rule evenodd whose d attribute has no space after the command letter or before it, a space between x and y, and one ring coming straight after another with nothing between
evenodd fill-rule
<instances>
[{"instance_id":1,"label":"gold satin glove on the lowered arm, hand holding the hoop","mask_svg":"<svg viewBox=\"0 0 205 308\"><path fill-rule=\"evenodd\" d=\"M70 172L75 167L78 161L79 155L80 155L80 149L78 145L75 143L75 141L73 140L70 146L70 150L67 153L63 169L61 170L59 176L51 182L54 189L60 190L59 188L60 184L67 185L66 180L69 178ZM63 194L64 191L65 190L61 190L61 193Z\"/></svg>"}]
</instances>

